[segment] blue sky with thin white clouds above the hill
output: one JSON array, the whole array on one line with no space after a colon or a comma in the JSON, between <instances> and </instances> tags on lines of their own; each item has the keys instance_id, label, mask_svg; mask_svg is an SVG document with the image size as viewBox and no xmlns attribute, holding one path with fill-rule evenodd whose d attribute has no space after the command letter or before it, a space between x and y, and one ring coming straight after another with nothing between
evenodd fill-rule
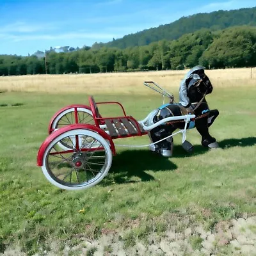
<instances>
[{"instance_id":1,"label":"blue sky with thin white clouds above the hill","mask_svg":"<svg viewBox=\"0 0 256 256\"><path fill-rule=\"evenodd\" d=\"M91 46L198 12L253 6L255 0L0 0L0 54Z\"/></svg>"}]
</instances>

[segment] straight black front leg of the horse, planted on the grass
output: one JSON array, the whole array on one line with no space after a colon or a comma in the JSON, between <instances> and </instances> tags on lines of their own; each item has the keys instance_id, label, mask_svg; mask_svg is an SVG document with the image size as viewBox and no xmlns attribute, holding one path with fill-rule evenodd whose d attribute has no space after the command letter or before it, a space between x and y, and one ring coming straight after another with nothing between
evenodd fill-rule
<instances>
[{"instance_id":1,"label":"straight black front leg of the horse, planted on the grass","mask_svg":"<svg viewBox=\"0 0 256 256\"><path fill-rule=\"evenodd\" d=\"M207 148L218 148L219 145L216 139L209 134L209 129L207 125L208 118L200 118L196 120L196 130L202 136L202 145Z\"/></svg>"}]
</instances>

